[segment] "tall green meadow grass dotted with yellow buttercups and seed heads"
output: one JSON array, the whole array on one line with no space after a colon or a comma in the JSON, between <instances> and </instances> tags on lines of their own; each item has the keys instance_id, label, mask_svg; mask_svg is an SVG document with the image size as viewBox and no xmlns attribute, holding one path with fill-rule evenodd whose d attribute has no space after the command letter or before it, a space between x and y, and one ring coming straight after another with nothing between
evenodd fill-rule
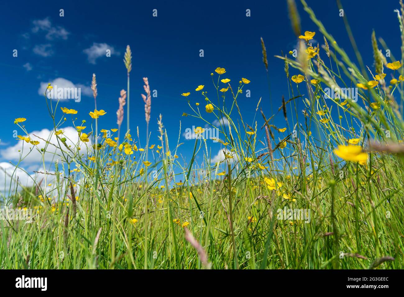
<instances>
[{"instance_id":1,"label":"tall green meadow grass dotted with yellow buttercups and seed heads","mask_svg":"<svg viewBox=\"0 0 404 297\"><path fill-rule=\"evenodd\" d=\"M212 162L212 139L196 138L189 161L183 158L181 127L177 143L169 143L162 115L157 137L148 128L145 135L139 130L123 133L124 91L115 132L98 130L102 110L91 112L87 123L77 124L77 111L61 112L60 103L46 95L54 135L48 139L29 135L25 119L17 118L24 149L15 165L19 167L30 150L38 150L45 174L38 173L30 187L17 187L16 174L10 176L13 182L3 205L34 213L32 222L0 220L0 267L403 268L404 79L399 75L403 75L404 38L402 56L394 64L393 56L387 61L379 50L384 41L378 43L372 35L372 73L356 45L359 66L302 3L324 44L320 50L310 43L310 32L301 35L296 6L288 1L301 42L296 58L278 56L285 61L288 99L273 98L279 102L273 103L275 114L268 115L258 102L254 120L244 121L241 94L254 82L245 78L228 82L233 74L221 67L211 74L213 86L208 86L208 78L196 92L182 94L190 108L183 116L211 127L209 119L219 120L220 134L214 140L224 151L218 163ZM261 41L263 67L268 71ZM129 89L129 47L126 55ZM389 82L390 76L398 81ZM96 98L95 77L94 84ZM326 88L336 87L357 88L358 100L343 92L339 98L328 98ZM214 91L208 96L206 90ZM145 92L148 127L147 78ZM298 100L303 111L297 109ZM77 128L77 141L63 134L63 125L71 125L70 115L76 128L90 125ZM284 118L284 128L273 124L275 115ZM202 132L196 128L196 135ZM141 139L146 138L142 146ZM55 150L49 166L45 154ZM203 161L196 161L197 154ZM309 217L281 220L285 208L286 215L288 209L299 209L309 211Z\"/></svg>"}]
</instances>

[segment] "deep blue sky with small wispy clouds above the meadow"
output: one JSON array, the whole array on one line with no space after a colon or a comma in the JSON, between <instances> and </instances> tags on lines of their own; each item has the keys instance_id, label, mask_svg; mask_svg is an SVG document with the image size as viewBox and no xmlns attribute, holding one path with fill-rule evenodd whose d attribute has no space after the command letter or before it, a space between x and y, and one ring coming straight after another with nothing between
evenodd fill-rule
<instances>
[{"instance_id":1,"label":"deep blue sky with small wispy clouds above the meadow","mask_svg":"<svg viewBox=\"0 0 404 297\"><path fill-rule=\"evenodd\" d=\"M356 61L335 1L307 0L307 3L328 32ZM373 69L372 29L376 30L378 37L383 37L393 55L400 57L400 31L396 13L393 12L399 8L398 1L381 3L371 0L366 1L366 5L359 1L342 1L342 4L365 65ZM59 17L61 8L64 9L64 17ZM157 17L152 16L153 9L157 9ZM250 17L246 17L246 9L250 9ZM316 31L315 39L321 44L321 33L300 3L298 9L302 31ZM140 96L143 93L142 77L148 77L151 89L158 92L158 97L152 98L151 103L151 143L157 143L156 121L160 113L174 146L180 120L182 132L192 125L204 124L201 120L181 115L183 112L191 113L187 99L204 106L202 96L195 88L203 84L204 90L213 93L210 73L217 67L224 67L226 77L233 82L238 82L241 77L251 81L245 88L251 91L251 97L246 98L243 93L238 101L243 119L249 125L254 126L252 120L260 97L261 107L269 116L269 91L262 63L261 36L267 48L273 105L281 105L282 95L288 99L284 63L274 57L287 53L297 42L288 19L286 1L2 1L0 11L0 26L3 28L0 31L1 162L9 161L7 157L10 154L4 152L16 143L13 138L16 117L27 118L25 125L29 132L52 128L44 98L38 94L41 82L63 78L82 86L82 93L86 93L95 73L97 107L107 111L99 128L115 128L119 92L126 90L126 69L122 59L127 44L133 52L130 123L132 129L139 126L143 146L146 136L144 103ZM105 56L105 48L112 50L111 57ZM14 49L18 50L17 57L13 57ZM204 57L199 56L200 49L204 50ZM97 50L101 53L99 56ZM294 74L299 73L291 69L291 75ZM191 95L185 99L180 95L183 92L191 92ZM76 109L78 119L90 121L88 112L94 109L94 100L82 94L81 102L62 102L59 106ZM300 106L303 107L302 104ZM212 114L204 115L206 119L214 120ZM256 118L261 127L261 115L258 113ZM71 125L67 122L66 126ZM123 127L125 123L126 109ZM275 124L285 126L281 113L276 117ZM134 131L132 134L135 134ZM259 136L262 135L263 132L259 132ZM194 141L181 136L180 142L185 143L179 153L189 158ZM214 156L220 145L212 144L211 148ZM27 160L24 165L31 168L35 160Z\"/></svg>"}]
</instances>

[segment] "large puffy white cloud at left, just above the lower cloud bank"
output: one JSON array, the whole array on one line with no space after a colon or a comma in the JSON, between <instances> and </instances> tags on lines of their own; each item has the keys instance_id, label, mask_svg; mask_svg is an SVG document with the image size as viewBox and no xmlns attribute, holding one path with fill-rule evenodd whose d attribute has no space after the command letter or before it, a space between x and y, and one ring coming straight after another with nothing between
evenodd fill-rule
<instances>
[{"instance_id":1,"label":"large puffy white cloud at left, just above the lower cloud bank","mask_svg":"<svg viewBox=\"0 0 404 297\"><path fill-rule=\"evenodd\" d=\"M66 127L66 128L61 128L61 130L64 131L63 136L67 138L66 140L66 144L67 145L76 145L76 143L78 142L78 132L74 127ZM34 134L36 136L34 136ZM50 143L53 143L55 145L58 145L57 143L57 138L55 136L55 134L53 134L50 137L51 131L49 129L42 129L42 130L36 130L36 131L32 131L31 133L29 133L29 137L32 140L37 140L40 142L40 144L38 144L38 148L44 148L45 146L45 142L44 140L40 139L46 139L48 140ZM49 140L50 137L50 140ZM38 152L36 150L36 148L34 148L30 153L29 153L29 148L32 148L33 145L29 144L23 140L16 140L16 144L13 146L9 146L8 148L2 149L0 150L0 155L2 157L2 159L5 159L7 161L18 161L20 159L20 154L22 155L22 157L24 157L23 162L24 165L26 164L30 164L30 165L36 165L36 164L41 164L42 163L42 154L40 152ZM91 142L87 142L87 145L91 145ZM64 147L63 144L61 144L62 148ZM83 142L80 141L80 146L82 149L82 152L84 153L85 150L85 146L83 144ZM20 150L20 152L19 152ZM64 150L66 151L66 150ZM29 153L29 154L28 154ZM27 155L28 154L28 155ZM44 159L46 163L50 163L50 162L55 162L57 159L61 159L61 157L59 157L61 155L61 150L60 148L56 148L55 146L49 144L48 147L46 148L46 153L44 154ZM26 156L26 157L25 157Z\"/></svg>"}]
</instances>

